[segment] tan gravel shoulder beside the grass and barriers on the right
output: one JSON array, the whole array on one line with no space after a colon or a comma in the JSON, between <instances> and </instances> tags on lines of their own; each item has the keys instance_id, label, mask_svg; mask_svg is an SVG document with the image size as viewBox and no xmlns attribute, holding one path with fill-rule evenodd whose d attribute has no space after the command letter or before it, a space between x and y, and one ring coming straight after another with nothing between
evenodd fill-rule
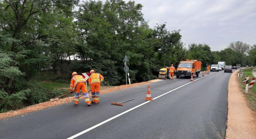
<instances>
[{"instance_id":1,"label":"tan gravel shoulder beside the grass and barriers on the right","mask_svg":"<svg viewBox=\"0 0 256 139\"><path fill-rule=\"evenodd\" d=\"M256 113L239 89L237 70L228 83L227 139L256 139Z\"/></svg>"}]
</instances>

